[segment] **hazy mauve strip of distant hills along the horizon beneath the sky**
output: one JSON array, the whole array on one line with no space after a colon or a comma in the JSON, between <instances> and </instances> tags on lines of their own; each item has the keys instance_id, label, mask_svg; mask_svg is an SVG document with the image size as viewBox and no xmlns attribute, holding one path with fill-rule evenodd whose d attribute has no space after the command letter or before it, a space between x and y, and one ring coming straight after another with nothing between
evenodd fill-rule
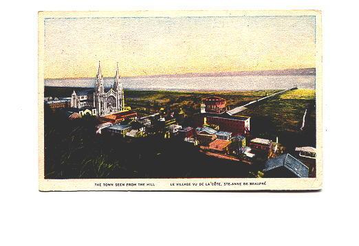
<instances>
[{"instance_id":1,"label":"hazy mauve strip of distant hills along the horizon beneath the sky","mask_svg":"<svg viewBox=\"0 0 359 246\"><path fill-rule=\"evenodd\" d=\"M219 71L219 72L190 72L184 74L155 74L139 76L121 76L121 78L186 78L186 77L226 77L226 76L285 76L285 75L316 75L316 67L290 68L290 69L266 69L266 70L246 70L246 71ZM67 77L67 78L44 78L44 80L69 80L69 79L88 79L91 77ZM103 78L113 78L107 76Z\"/></svg>"}]
</instances>

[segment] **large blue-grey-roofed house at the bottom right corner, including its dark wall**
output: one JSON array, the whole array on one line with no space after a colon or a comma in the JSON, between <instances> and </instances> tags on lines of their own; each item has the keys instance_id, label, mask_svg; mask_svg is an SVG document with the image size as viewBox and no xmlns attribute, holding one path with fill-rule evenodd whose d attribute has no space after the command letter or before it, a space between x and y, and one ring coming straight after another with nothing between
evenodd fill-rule
<instances>
[{"instance_id":1,"label":"large blue-grey-roofed house at the bottom right corner, including its dark wall","mask_svg":"<svg viewBox=\"0 0 359 246\"><path fill-rule=\"evenodd\" d=\"M309 168L290 154L280 155L265 161L264 177L268 178L307 178Z\"/></svg>"}]
</instances>

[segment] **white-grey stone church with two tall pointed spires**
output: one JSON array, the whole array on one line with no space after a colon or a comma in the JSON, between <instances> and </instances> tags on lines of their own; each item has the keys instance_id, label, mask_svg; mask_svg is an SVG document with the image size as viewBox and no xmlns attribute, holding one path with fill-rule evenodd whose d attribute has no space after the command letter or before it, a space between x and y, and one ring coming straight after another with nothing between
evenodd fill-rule
<instances>
[{"instance_id":1,"label":"white-grey stone church with two tall pointed spires","mask_svg":"<svg viewBox=\"0 0 359 246\"><path fill-rule=\"evenodd\" d=\"M104 79L102 76L100 62L94 89L74 91L71 97L71 107L82 109L96 109L97 116L109 115L124 111L124 93L118 65L113 81L113 87L105 91Z\"/></svg>"}]
</instances>

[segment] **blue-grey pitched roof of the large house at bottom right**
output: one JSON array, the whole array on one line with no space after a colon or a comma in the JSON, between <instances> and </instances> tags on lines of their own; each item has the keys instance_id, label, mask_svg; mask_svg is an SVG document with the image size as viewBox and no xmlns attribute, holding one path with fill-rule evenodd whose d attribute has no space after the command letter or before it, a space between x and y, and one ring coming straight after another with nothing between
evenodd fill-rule
<instances>
[{"instance_id":1,"label":"blue-grey pitched roof of the large house at bottom right","mask_svg":"<svg viewBox=\"0 0 359 246\"><path fill-rule=\"evenodd\" d=\"M285 167L297 177L306 178L309 176L309 169L301 161L292 157L290 154L280 155L273 159L265 161L263 172L268 172L274 168Z\"/></svg>"}]
</instances>

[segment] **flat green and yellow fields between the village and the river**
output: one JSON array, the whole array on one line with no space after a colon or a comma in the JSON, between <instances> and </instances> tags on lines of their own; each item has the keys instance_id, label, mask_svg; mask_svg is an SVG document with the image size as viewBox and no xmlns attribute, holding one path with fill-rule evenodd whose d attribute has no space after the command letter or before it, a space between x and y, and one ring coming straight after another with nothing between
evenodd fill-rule
<instances>
[{"instance_id":1,"label":"flat green and yellow fields between the village and the river","mask_svg":"<svg viewBox=\"0 0 359 246\"><path fill-rule=\"evenodd\" d=\"M69 97L74 88L45 87L45 96ZM202 100L208 96L219 96L227 100L229 109L275 93L265 91L124 91L125 104L134 110L141 107L158 110L160 107L181 108L186 115L199 112ZM301 131L303 115L307 109L305 131ZM276 98L254 104L239 115L251 117L251 133L257 137L281 140L288 146L302 144L315 146L316 110L315 90L296 89ZM295 141L295 142L294 142Z\"/></svg>"}]
</instances>

